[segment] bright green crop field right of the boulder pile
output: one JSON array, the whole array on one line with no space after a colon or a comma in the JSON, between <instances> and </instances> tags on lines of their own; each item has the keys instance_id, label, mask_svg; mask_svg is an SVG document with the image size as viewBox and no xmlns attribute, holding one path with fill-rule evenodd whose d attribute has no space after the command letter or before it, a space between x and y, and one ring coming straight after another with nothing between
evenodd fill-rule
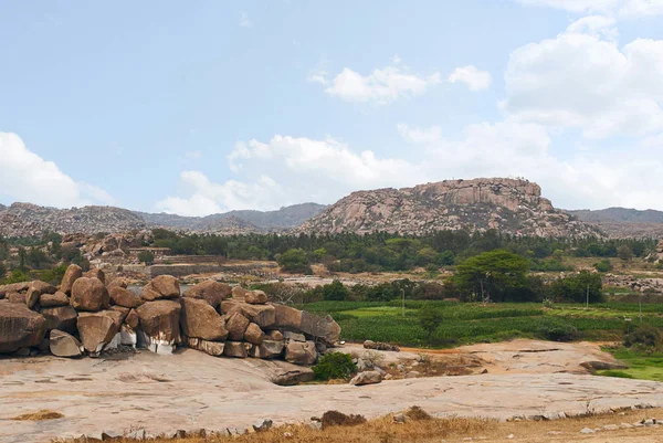
<instances>
[{"instance_id":1,"label":"bright green crop field right of the boulder pile","mask_svg":"<svg viewBox=\"0 0 663 443\"><path fill-rule=\"evenodd\" d=\"M332 315L340 325L343 338L366 339L401 346L443 348L511 338L548 340L620 340L641 321L663 327L663 305L604 303L590 305L560 304L474 304L407 300L404 316L400 300L319 302L301 308ZM436 309L441 325L430 340L420 326L420 309Z\"/></svg>"}]
</instances>

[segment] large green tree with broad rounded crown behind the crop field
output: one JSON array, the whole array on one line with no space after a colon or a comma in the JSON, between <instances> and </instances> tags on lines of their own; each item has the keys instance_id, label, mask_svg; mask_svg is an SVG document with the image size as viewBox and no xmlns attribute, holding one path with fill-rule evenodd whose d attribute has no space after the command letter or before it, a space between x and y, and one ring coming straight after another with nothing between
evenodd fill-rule
<instances>
[{"instance_id":1,"label":"large green tree with broad rounded crown behind the crop field","mask_svg":"<svg viewBox=\"0 0 663 443\"><path fill-rule=\"evenodd\" d=\"M485 300L504 302L509 291L527 284L530 263L504 250L484 252L456 266L455 282L462 291L480 294Z\"/></svg>"}]
</instances>

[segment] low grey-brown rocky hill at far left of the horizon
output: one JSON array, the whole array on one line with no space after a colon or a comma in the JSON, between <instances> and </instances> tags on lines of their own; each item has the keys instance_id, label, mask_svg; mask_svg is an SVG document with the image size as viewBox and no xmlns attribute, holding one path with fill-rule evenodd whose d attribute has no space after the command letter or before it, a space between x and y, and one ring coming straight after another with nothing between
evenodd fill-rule
<instances>
[{"instance_id":1,"label":"low grey-brown rocky hill at far left of the horizon","mask_svg":"<svg viewBox=\"0 0 663 443\"><path fill-rule=\"evenodd\" d=\"M114 207L55 209L31 203L0 208L0 234L3 236L59 233L127 232L146 229L145 221L131 211Z\"/></svg>"}]
</instances>

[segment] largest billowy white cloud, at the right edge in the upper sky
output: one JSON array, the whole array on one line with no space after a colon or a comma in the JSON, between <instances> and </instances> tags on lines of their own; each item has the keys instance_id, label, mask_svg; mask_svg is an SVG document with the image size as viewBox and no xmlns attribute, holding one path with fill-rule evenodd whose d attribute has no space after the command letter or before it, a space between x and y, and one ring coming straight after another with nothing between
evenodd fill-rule
<instances>
[{"instance_id":1,"label":"largest billowy white cloud, at the right edge in the upper sky","mask_svg":"<svg viewBox=\"0 0 663 443\"><path fill-rule=\"evenodd\" d=\"M663 129L663 41L639 39L620 50L601 38L609 23L581 19L555 39L515 50L504 109L589 138Z\"/></svg>"}]
</instances>

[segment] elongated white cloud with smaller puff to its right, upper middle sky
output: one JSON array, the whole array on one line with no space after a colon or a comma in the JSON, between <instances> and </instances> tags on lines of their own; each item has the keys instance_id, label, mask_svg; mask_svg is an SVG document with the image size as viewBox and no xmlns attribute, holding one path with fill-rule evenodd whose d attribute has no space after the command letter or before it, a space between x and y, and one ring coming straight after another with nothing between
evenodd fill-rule
<instances>
[{"instance_id":1,"label":"elongated white cloud with smaller puff to its right, upper middle sky","mask_svg":"<svg viewBox=\"0 0 663 443\"><path fill-rule=\"evenodd\" d=\"M324 82L317 83L327 84L326 72L322 78ZM329 82L325 92L347 102L372 102L385 105L400 97L423 94L425 89L439 83L440 73L431 75L411 73L398 59L392 66L375 70L368 75L361 75L346 67Z\"/></svg>"}]
</instances>

